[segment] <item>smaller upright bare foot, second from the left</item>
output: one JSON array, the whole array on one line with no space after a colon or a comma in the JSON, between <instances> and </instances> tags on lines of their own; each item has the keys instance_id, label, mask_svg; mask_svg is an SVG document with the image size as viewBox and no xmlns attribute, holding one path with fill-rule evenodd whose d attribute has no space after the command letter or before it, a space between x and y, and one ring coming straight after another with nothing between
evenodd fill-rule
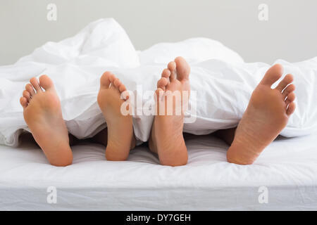
<instances>
[{"instance_id":1,"label":"smaller upright bare foot, second from the left","mask_svg":"<svg viewBox=\"0 0 317 225\"><path fill-rule=\"evenodd\" d=\"M125 85L111 72L102 75L98 104L108 127L107 160L126 160L130 149L135 147L132 115L123 115L120 111L121 105L128 99L120 98L121 93L126 90Z\"/></svg>"}]
</instances>

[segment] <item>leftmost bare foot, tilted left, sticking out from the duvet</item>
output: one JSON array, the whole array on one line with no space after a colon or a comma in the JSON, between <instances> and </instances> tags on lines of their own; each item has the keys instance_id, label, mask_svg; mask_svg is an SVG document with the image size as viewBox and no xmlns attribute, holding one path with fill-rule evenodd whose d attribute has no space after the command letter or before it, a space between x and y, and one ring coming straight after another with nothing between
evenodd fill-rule
<instances>
[{"instance_id":1,"label":"leftmost bare foot, tilted left, sticking out from the duvet","mask_svg":"<svg viewBox=\"0 0 317 225\"><path fill-rule=\"evenodd\" d=\"M51 165L70 165L73 154L54 84L46 75L39 77L39 82L33 77L30 83L20 98L25 122Z\"/></svg>"}]
</instances>

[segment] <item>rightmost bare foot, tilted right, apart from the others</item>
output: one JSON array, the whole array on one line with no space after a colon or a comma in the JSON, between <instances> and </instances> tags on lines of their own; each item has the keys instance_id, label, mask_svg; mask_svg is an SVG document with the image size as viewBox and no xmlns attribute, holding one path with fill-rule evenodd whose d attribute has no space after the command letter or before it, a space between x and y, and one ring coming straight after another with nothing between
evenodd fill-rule
<instances>
[{"instance_id":1,"label":"rightmost bare foot, tilted right, apart from the others","mask_svg":"<svg viewBox=\"0 0 317 225\"><path fill-rule=\"evenodd\" d=\"M275 89L271 89L282 76L282 70L282 65L274 65L254 89L228 149L228 162L252 164L287 125L295 110L295 86L290 84L292 75L286 75Z\"/></svg>"}]
</instances>

